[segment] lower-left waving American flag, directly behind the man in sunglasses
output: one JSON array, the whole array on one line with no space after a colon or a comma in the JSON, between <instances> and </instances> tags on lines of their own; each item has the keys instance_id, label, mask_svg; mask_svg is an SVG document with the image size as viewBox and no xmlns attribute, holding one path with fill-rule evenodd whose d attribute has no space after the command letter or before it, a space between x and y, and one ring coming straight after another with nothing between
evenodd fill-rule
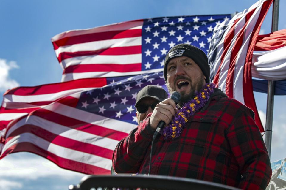
<instances>
[{"instance_id":1,"label":"lower-left waving American flag, directly behind the man in sunglasses","mask_svg":"<svg viewBox=\"0 0 286 190\"><path fill-rule=\"evenodd\" d=\"M137 126L137 92L145 85L164 85L162 75L79 79L7 91L0 117L9 124L0 158L28 151L66 169L109 174L115 146Z\"/></svg>"}]
</instances>

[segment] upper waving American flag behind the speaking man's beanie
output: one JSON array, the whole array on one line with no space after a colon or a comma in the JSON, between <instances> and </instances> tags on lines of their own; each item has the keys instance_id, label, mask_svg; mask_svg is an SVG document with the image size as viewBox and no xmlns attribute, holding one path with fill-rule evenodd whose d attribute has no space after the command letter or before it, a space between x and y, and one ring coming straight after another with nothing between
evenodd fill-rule
<instances>
[{"instance_id":1,"label":"upper waving American flag behind the speaking man's beanie","mask_svg":"<svg viewBox=\"0 0 286 190\"><path fill-rule=\"evenodd\" d=\"M52 38L62 81L90 77L138 75L163 70L168 50L176 44L205 53L213 29L230 15L159 17L92 29L71 30Z\"/></svg>"}]
</instances>

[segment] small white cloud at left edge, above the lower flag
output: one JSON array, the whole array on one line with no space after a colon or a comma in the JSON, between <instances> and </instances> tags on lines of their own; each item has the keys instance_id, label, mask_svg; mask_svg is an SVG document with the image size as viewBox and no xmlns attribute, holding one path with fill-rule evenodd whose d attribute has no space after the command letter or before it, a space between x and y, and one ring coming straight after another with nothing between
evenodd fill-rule
<instances>
[{"instance_id":1,"label":"small white cloud at left edge, above the lower flag","mask_svg":"<svg viewBox=\"0 0 286 190\"><path fill-rule=\"evenodd\" d=\"M7 62L5 59L0 59L0 91L19 86L16 80L9 77L9 71L14 68L19 68L15 61Z\"/></svg>"}]
</instances>

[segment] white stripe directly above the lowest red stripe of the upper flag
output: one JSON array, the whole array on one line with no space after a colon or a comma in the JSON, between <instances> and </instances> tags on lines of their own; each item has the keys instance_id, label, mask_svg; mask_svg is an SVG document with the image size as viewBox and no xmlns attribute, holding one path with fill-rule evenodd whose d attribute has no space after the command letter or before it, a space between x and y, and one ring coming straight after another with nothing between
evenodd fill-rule
<instances>
[{"instance_id":1,"label":"white stripe directly above the lowest red stripe of the upper flag","mask_svg":"<svg viewBox=\"0 0 286 190\"><path fill-rule=\"evenodd\" d=\"M106 55L92 55L92 56L79 56L63 60L60 64L66 68L71 65L79 64L133 64L141 63L142 55L141 53L132 55L116 55L116 56L106 56Z\"/></svg>"}]
</instances>

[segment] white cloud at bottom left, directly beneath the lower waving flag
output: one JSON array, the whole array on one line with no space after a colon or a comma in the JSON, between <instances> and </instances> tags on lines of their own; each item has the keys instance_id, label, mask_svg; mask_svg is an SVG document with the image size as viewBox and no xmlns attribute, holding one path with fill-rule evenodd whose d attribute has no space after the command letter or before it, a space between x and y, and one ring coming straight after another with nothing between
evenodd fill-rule
<instances>
[{"instance_id":1,"label":"white cloud at bottom left, directly beneath the lower waving flag","mask_svg":"<svg viewBox=\"0 0 286 190\"><path fill-rule=\"evenodd\" d=\"M85 176L82 173L62 169L53 162L31 153L15 154L17 155L10 154L1 159L0 178L15 177L36 180L41 177L57 176L62 179L71 179Z\"/></svg>"}]
</instances>

